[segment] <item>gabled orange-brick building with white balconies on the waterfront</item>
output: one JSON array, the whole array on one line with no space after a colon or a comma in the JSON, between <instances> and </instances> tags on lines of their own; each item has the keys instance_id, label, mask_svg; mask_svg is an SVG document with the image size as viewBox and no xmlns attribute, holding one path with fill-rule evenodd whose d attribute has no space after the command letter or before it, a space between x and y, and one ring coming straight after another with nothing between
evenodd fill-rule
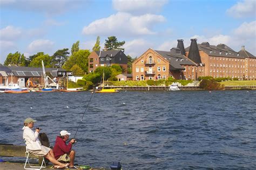
<instances>
[{"instance_id":1,"label":"gabled orange-brick building with white balconies on the waterfront","mask_svg":"<svg viewBox=\"0 0 256 170\"><path fill-rule=\"evenodd\" d=\"M193 79L197 64L185 56L183 39L170 51L148 49L132 63L133 80Z\"/></svg>"}]
</instances>

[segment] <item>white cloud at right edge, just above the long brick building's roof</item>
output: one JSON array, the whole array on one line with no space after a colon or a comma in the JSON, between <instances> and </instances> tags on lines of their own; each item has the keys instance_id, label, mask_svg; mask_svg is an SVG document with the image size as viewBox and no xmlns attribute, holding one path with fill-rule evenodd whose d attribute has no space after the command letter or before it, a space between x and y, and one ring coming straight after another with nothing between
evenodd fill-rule
<instances>
[{"instance_id":1,"label":"white cloud at right edge, just above the long brick building's roof","mask_svg":"<svg viewBox=\"0 0 256 170\"><path fill-rule=\"evenodd\" d=\"M234 34L245 38L256 38L256 21L242 23L237 29L234 30Z\"/></svg>"}]
</instances>

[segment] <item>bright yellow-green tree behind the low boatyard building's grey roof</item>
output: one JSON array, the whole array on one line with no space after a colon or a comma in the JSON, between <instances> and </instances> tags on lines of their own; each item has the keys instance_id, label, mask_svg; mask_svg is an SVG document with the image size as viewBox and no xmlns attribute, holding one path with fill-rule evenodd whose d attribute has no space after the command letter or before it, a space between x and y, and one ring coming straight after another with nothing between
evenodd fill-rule
<instances>
[{"instance_id":1,"label":"bright yellow-green tree behind the low boatyard building's grey roof","mask_svg":"<svg viewBox=\"0 0 256 170\"><path fill-rule=\"evenodd\" d=\"M42 60L44 61L45 67L51 67L51 57L49 55L45 55L44 53L41 53L41 55L37 56L36 58L33 58L29 66L42 67Z\"/></svg>"}]
</instances>

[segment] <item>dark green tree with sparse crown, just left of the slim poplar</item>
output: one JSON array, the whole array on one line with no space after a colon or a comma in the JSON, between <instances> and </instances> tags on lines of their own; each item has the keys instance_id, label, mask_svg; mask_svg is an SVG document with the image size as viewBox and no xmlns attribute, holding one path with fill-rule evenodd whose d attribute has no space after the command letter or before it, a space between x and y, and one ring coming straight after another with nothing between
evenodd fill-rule
<instances>
[{"instance_id":1,"label":"dark green tree with sparse crown, just left of the slim poplar","mask_svg":"<svg viewBox=\"0 0 256 170\"><path fill-rule=\"evenodd\" d=\"M55 65L57 67L62 67L63 64L66 62L66 60L68 59L68 55L69 55L69 49L62 49L62 50L58 50L56 51L52 58L52 65Z\"/></svg>"}]
</instances>

